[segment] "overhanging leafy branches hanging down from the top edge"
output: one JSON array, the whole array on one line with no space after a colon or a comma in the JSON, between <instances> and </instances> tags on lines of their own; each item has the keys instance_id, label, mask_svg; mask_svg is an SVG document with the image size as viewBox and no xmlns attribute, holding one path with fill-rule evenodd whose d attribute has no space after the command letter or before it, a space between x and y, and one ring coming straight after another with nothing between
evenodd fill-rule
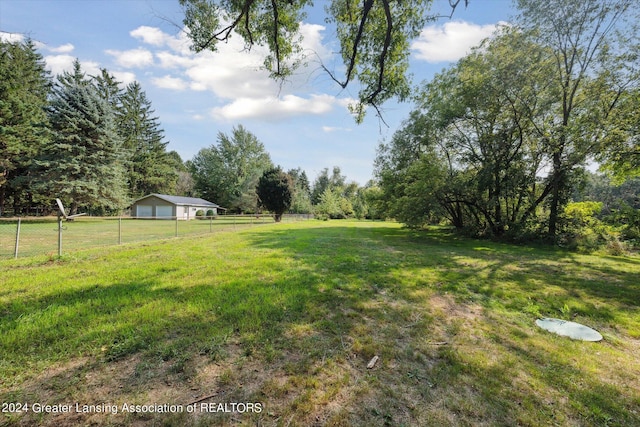
<instances>
[{"instance_id":1,"label":"overhanging leafy branches hanging down from the top edge","mask_svg":"<svg viewBox=\"0 0 640 427\"><path fill-rule=\"evenodd\" d=\"M358 102L352 105L362 121L366 107L379 106L390 98L407 99L411 93L408 75L410 42L426 23L433 0L331 0L325 7L326 22L335 26L340 43L344 75L322 68L342 88L354 81L360 85ZM464 0L464 4L468 4ZM462 0L449 0L451 13ZM196 52L215 51L233 33L239 34L247 50L266 46L264 66L274 79L284 80L305 63L299 33L311 0L180 0L184 24Z\"/></svg>"}]
</instances>

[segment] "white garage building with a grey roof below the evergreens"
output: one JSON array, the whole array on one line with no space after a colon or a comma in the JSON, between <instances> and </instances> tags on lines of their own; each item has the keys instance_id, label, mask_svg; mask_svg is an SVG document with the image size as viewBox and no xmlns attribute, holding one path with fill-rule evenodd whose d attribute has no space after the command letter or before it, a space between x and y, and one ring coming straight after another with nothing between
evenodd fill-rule
<instances>
[{"instance_id":1,"label":"white garage building with a grey roof below the evergreens","mask_svg":"<svg viewBox=\"0 0 640 427\"><path fill-rule=\"evenodd\" d=\"M131 205L131 216L150 219L195 219L198 211L201 215L217 215L218 210L226 210L215 203L196 197L168 196L149 194Z\"/></svg>"}]
</instances>

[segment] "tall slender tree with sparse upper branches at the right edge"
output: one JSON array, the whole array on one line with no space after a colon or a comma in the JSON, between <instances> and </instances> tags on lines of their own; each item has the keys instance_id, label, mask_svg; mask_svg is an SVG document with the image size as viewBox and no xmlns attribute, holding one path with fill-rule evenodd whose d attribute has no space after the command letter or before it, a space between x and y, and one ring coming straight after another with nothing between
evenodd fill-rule
<instances>
[{"instance_id":1,"label":"tall slender tree with sparse upper branches at the right edge","mask_svg":"<svg viewBox=\"0 0 640 427\"><path fill-rule=\"evenodd\" d=\"M550 197L548 235L555 237L571 193L573 171L600 151L604 142L600 130L610 129L611 113L629 78L637 84L637 73L627 75L624 65L633 60L627 50L638 46L634 28L638 4L634 0L518 0L518 7L519 26L536 35L555 64L555 117L537 123L551 161L540 197ZM596 81L613 86L594 91Z\"/></svg>"}]
</instances>

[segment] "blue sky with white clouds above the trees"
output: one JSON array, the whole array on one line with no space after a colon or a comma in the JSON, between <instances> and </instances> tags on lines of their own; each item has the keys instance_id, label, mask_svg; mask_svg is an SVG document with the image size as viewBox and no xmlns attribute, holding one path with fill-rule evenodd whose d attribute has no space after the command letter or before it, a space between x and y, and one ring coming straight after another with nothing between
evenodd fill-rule
<instances>
[{"instance_id":1,"label":"blue sky with white clouds above the trees","mask_svg":"<svg viewBox=\"0 0 640 427\"><path fill-rule=\"evenodd\" d=\"M169 142L183 160L215 144L220 132L243 125L284 170L302 168L313 182L324 169L341 169L360 185L373 178L376 149L391 138L411 103L382 106L384 122L369 111L356 124L348 104L354 85L342 89L320 68L335 69L337 42L324 21L326 0L302 22L307 65L280 85L261 69L264 49L242 52L239 36L216 53L194 53L182 26L178 0L0 0L0 37L36 42L53 75L77 58L89 75L106 68L128 84L138 81ZM425 27L411 45L410 72L428 81L465 55L515 13L510 0L464 1L453 18ZM432 12L449 14L448 0Z\"/></svg>"}]
</instances>

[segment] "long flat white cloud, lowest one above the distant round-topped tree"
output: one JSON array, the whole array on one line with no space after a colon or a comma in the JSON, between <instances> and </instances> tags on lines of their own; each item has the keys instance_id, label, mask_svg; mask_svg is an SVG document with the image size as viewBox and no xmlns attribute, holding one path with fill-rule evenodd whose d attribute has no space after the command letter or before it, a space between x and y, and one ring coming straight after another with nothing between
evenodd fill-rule
<instances>
[{"instance_id":1,"label":"long flat white cloud, lowest one above the distant round-topped tree","mask_svg":"<svg viewBox=\"0 0 640 427\"><path fill-rule=\"evenodd\" d=\"M328 113L339 100L331 95L311 95L301 98L296 95L285 95L280 98L239 98L225 105L214 108L211 112L216 119L239 120L260 118L281 120L296 115L319 115Z\"/></svg>"}]
</instances>

